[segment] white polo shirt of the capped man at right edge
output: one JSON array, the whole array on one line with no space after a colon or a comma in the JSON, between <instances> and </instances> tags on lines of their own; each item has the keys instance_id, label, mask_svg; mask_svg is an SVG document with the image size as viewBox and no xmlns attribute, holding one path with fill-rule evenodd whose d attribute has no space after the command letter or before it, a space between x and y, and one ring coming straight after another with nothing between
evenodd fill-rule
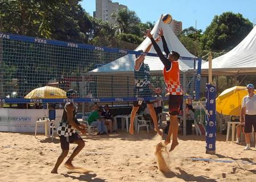
<instances>
[{"instance_id":1,"label":"white polo shirt of the capped man at right edge","mask_svg":"<svg viewBox=\"0 0 256 182\"><path fill-rule=\"evenodd\" d=\"M245 107L245 114L256 115L256 95L243 97L242 107Z\"/></svg>"}]
</instances>

